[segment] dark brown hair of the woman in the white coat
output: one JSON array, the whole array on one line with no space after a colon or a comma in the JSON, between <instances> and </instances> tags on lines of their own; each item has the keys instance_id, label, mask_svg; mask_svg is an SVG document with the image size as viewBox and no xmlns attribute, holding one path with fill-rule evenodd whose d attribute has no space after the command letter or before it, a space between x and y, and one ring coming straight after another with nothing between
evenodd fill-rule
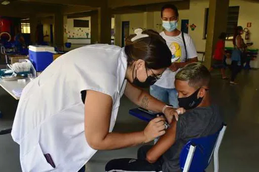
<instances>
[{"instance_id":1,"label":"dark brown hair of the woman in the white coat","mask_svg":"<svg viewBox=\"0 0 259 172\"><path fill-rule=\"evenodd\" d=\"M162 69L171 65L172 53L169 50L166 41L158 32L147 29L142 32L148 34L148 37L131 41L136 34L126 38L125 54L127 56L128 66L135 60L142 59L146 62L149 69Z\"/></svg>"}]
</instances>

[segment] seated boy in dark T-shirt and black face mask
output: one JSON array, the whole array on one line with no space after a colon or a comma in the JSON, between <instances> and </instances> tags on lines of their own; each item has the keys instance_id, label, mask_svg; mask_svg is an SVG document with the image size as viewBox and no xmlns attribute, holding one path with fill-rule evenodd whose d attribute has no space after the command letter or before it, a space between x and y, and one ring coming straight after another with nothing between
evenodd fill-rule
<instances>
[{"instance_id":1,"label":"seated boy in dark T-shirt and black face mask","mask_svg":"<svg viewBox=\"0 0 259 172\"><path fill-rule=\"evenodd\" d=\"M175 79L179 106L185 108L185 114L172 121L155 145L142 146L138 159L111 160L107 172L181 172L179 158L185 143L212 135L222 127L219 109L210 101L208 69L201 63L191 63Z\"/></svg>"}]
</instances>

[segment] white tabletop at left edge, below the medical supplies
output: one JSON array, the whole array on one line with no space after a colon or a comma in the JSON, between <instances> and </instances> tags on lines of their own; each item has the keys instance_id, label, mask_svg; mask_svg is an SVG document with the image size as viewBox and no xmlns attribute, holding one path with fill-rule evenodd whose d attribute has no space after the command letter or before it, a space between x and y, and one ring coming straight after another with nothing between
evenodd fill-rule
<instances>
[{"instance_id":1,"label":"white tabletop at left edge, below the medical supplies","mask_svg":"<svg viewBox=\"0 0 259 172\"><path fill-rule=\"evenodd\" d=\"M13 98L16 100L19 100L20 97L17 97L12 90L13 89L23 89L28 83L30 83L30 80L26 79L26 82L20 82L18 83L17 81L3 81L0 79L0 86L7 91Z\"/></svg>"}]
</instances>

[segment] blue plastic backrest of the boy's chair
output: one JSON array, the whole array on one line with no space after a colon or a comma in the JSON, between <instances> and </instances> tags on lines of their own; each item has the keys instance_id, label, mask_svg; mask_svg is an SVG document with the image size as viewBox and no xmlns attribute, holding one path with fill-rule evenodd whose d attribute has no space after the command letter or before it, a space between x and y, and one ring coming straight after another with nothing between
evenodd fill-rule
<instances>
[{"instance_id":1,"label":"blue plastic backrest of the boy's chair","mask_svg":"<svg viewBox=\"0 0 259 172\"><path fill-rule=\"evenodd\" d=\"M191 139L187 142L180 154L180 167L182 171L185 168L185 161L190 148L195 147L188 172L204 172L210 164L215 145L218 142L221 131L224 131L224 129L225 125L223 125L223 127L213 135Z\"/></svg>"}]
</instances>

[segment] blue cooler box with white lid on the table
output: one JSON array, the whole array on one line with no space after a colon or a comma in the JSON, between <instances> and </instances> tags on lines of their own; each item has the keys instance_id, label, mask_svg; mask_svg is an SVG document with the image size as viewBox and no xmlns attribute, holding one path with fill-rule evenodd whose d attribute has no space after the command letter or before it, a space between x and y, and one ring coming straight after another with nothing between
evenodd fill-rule
<instances>
[{"instance_id":1,"label":"blue cooler box with white lid on the table","mask_svg":"<svg viewBox=\"0 0 259 172\"><path fill-rule=\"evenodd\" d=\"M55 54L54 47L50 46L29 46L29 58L37 72L43 71L53 61Z\"/></svg>"}]
</instances>

